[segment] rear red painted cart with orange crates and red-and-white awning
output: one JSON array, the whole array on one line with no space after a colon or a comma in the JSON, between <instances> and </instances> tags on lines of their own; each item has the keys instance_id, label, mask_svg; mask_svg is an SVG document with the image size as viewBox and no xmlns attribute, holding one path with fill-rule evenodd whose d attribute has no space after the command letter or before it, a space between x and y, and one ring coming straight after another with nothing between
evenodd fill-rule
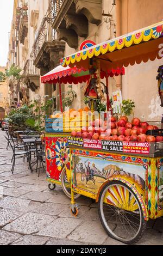
<instances>
[{"instance_id":1,"label":"rear red painted cart with orange crates and red-and-white awning","mask_svg":"<svg viewBox=\"0 0 163 256\"><path fill-rule=\"evenodd\" d=\"M101 71L101 78L106 78L108 84L108 77L124 75L124 68L111 69ZM78 84L90 81L90 72L83 68L63 68L58 66L48 74L41 77L42 83L55 83L59 84L60 95L60 113L54 114L53 118L46 118L46 171L47 181L49 182L49 189L54 190L55 184L61 185L65 194L71 197L70 191L70 149L68 148L68 137L71 136L73 126L70 126L71 121L76 119L78 123L78 130L82 128L81 117L76 117L76 113L66 115L63 113L62 96L61 96L61 84ZM110 106L109 94L107 94L108 108ZM86 111L89 108L85 108ZM81 109L80 109L81 110ZM76 111L73 111L76 112ZM80 194L76 194L75 197L79 197Z\"/></svg>"}]
</instances>

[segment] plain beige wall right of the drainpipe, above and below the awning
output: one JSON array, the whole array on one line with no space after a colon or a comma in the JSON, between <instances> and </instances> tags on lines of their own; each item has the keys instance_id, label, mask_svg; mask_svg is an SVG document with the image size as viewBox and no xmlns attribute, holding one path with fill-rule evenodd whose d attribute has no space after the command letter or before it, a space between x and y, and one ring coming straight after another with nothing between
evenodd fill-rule
<instances>
[{"instance_id":1,"label":"plain beige wall right of the drainpipe, above and below the awning","mask_svg":"<svg viewBox=\"0 0 163 256\"><path fill-rule=\"evenodd\" d=\"M121 0L121 34L150 26L163 19L163 1ZM149 4L150 2L150 4ZM162 60L148 61L126 68L122 78L123 99L135 101L135 116L142 120L160 121L160 107L156 75Z\"/></svg>"}]
</instances>

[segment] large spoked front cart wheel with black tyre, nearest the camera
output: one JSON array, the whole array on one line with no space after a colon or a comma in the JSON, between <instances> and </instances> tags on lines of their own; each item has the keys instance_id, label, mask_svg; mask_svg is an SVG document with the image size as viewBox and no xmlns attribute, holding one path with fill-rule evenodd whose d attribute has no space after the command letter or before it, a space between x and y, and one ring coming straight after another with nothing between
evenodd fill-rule
<instances>
[{"instance_id":1,"label":"large spoked front cart wheel with black tyre, nearest the camera","mask_svg":"<svg viewBox=\"0 0 163 256\"><path fill-rule=\"evenodd\" d=\"M112 238L123 243L139 241L146 229L141 204L136 194L120 181L106 184L99 196L101 223Z\"/></svg>"}]
</instances>

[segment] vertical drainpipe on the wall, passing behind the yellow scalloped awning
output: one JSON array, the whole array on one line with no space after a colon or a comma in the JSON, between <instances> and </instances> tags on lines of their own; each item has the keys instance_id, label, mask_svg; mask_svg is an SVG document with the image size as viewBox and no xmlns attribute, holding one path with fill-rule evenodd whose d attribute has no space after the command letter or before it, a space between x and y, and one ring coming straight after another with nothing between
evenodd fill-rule
<instances>
[{"instance_id":1,"label":"vertical drainpipe on the wall, passing behind the yellow scalloped awning","mask_svg":"<svg viewBox=\"0 0 163 256\"><path fill-rule=\"evenodd\" d=\"M121 0L116 0L116 37L122 35L122 25L121 25ZM116 89L122 90L122 76L116 77Z\"/></svg>"}]
</instances>

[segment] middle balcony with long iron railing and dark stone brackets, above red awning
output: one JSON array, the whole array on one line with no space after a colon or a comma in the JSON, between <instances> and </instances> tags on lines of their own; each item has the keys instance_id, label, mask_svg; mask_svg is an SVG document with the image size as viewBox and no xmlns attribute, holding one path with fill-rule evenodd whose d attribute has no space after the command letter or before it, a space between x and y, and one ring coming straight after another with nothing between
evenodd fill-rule
<instances>
[{"instance_id":1,"label":"middle balcony with long iron railing and dark stone brackets, above red awning","mask_svg":"<svg viewBox=\"0 0 163 256\"><path fill-rule=\"evenodd\" d=\"M64 57L65 42L58 40L57 33L52 28L57 13L57 3L57 0L51 0L30 54L34 65L40 69L41 75L59 65L60 58Z\"/></svg>"}]
</instances>

